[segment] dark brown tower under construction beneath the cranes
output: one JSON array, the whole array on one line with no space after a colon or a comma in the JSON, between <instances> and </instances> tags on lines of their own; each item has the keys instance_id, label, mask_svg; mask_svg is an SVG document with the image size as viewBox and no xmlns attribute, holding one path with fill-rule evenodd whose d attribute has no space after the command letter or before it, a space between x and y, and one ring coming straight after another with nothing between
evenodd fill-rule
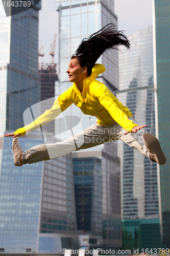
<instances>
[{"instance_id":1,"label":"dark brown tower under construction beneath the cranes","mask_svg":"<svg viewBox=\"0 0 170 256\"><path fill-rule=\"evenodd\" d=\"M41 63L38 66L38 74L41 76L41 102L46 100L44 104L43 102L41 104L41 113L51 109L54 103L55 81L58 80L56 67L56 63ZM50 123L45 124L43 130L54 134L54 122L55 121L51 121Z\"/></svg>"}]
</instances>

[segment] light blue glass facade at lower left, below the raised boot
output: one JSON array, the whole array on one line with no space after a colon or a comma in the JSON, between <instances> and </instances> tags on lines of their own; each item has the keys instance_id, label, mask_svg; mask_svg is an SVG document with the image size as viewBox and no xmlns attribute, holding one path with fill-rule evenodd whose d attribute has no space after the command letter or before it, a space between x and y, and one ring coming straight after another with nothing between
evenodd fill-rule
<instances>
[{"instance_id":1,"label":"light blue glass facade at lower left, below the raised boot","mask_svg":"<svg viewBox=\"0 0 170 256\"><path fill-rule=\"evenodd\" d=\"M27 248L36 252L43 163L28 164L22 168L14 166L12 140L5 137L3 143L0 247L5 248L5 252L26 252ZM23 137L19 142L22 148L42 143L38 139Z\"/></svg>"}]
</instances>

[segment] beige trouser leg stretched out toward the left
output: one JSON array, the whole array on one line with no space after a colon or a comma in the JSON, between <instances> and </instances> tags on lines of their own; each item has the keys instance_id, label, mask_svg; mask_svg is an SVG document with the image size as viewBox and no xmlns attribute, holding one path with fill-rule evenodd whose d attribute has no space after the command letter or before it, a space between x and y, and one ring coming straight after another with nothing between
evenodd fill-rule
<instances>
[{"instance_id":1,"label":"beige trouser leg stretched out toward the left","mask_svg":"<svg viewBox=\"0 0 170 256\"><path fill-rule=\"evenodd\" d=\"M36 163L44 160L50 160L66 155L73 151L82 150L92 146L109 142L109 135L101 125L95 123L85 129L83 132L68 138L67 140L42 144L29 148L27 152L22 153L23 164Z\"/></svg>"}]
</instances>

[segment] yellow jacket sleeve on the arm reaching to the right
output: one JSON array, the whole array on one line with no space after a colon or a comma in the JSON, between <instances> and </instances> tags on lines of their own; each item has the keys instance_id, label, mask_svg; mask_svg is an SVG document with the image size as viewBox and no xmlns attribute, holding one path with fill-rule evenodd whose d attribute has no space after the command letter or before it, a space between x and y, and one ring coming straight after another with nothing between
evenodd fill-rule
<instances>
[{"instance_id":1,"label":"yellow jacket sleeve on the arm reaching to the right","mask_svg":"<svg viewBox=\"0 0 170 256\"><path fill-rule=\"evenodd\" d=\"M129 120L128 116L119 109L118 105L112 99L108 88L104 84L100 84L99 90L96 90L96 94L96 97L104 106L104 108L109 112L111 117L126 131L131 132L132 128L137 126L137 124L133 123L132 120Z\"/></svg>"}]
</instances>

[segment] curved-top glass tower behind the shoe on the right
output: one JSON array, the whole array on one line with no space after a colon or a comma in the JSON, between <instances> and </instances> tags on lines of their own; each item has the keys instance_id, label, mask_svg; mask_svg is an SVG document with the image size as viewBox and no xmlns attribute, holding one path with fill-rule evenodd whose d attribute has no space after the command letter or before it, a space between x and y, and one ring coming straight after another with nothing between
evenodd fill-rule
<instances>
[{"instance_id":1,"label":"curved-top glass tower behind the shoe on the right","mask_svg":"<svg viewBox=\"0 0 170 256\"><path fill-rule=\"evenodd\" d=\"M137 123L147 124L145 131L155 135L152 30L148 27L130 35L129 51L120 47L123 53L119 53L116 96L130 109ZM122 174L124 248L155 248L161 243L157 164L120 141L118 156Z\"/></svg>"}]
</instances>

